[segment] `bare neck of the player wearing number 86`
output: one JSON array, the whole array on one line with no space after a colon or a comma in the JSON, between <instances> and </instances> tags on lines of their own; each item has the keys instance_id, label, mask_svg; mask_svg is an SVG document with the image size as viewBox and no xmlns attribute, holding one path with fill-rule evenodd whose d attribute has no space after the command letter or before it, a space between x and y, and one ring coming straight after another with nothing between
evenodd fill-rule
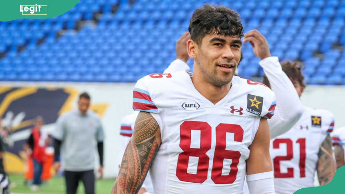
<instances>
[{"instance_id":1,"label":"bare neck of the player wearing number 86","mask_svg":"<svg viewBox=\"0 0 345 194\"><path fill-rule=\"evenodd\" d=\"M194 72L191 79L195 89L213 104L217 104L221 99L223 99L231 88L231 83L224 86L215 86L207 82L203 79L201 72Z\"/></svg>"}]
</instances>

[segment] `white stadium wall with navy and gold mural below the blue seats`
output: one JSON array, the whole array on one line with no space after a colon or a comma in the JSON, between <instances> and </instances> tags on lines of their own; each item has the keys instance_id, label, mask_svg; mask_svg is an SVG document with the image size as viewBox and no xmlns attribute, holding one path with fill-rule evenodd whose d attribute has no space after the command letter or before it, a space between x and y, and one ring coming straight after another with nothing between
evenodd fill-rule
<instances>
[{"instance_id":1,"label":"white stadium wall with navy and gold mural below the blue seats","mask_svg":"<svg viewBox=\"0 0 345 194\"><path fill-rule=\"evenodd\" d=\"M14 141L14 145L7 148L9 150L5 160L7 170L10 172L23 172L24 170L20 150L26 138L29 137L31 126L27 123L30 120L37 115L42 115L46 120L43 130L48 132L53 130L57 117L76 108L78 94L87 91L91 95L91 108L100 115L106 134L104 176L115 177L122 157L118 154L122 140L119 135L119 126L121 119L132 112L133 87L134 83L1 83L0 114L6 118L8 112L13 112L12 120L16 120L14 122L16 126L11 127L11 139ZM19 91L21 93L25 91L27 94L18 95ZM17 94L17 98L13 99L15 96L13 93ZM50 93L53 94L47 95ZM325 97L325 94L328 94L328 97ZM8 100L9 96L12 96L13 101ZM29 98L29 96L33 98ZM301 100L306 106L330 110L335 116L335 128L338 128L345 126L344 97L345 87L343 86L308 86ZM17 101L21 99L22 102L18 103ZM29 106L32 104L35 108ZM22 119L20 120L20 118ZM98 158L96 149L93 154ZM98 164L96 164L97 166Z\"/></svg>"}]
</instances>

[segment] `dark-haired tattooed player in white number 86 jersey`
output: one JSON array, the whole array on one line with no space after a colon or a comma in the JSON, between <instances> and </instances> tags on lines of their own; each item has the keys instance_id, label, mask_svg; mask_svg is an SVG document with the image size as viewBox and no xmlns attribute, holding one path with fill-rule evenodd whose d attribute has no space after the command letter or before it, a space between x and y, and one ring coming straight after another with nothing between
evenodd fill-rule
<instances>
[{"instance_id":1,"label":"dark-haired tattooed player in white number 86 jersey","mask_svg":"<svg viewBox=\"0 0 345 194\"><path fill-rule=\"evenodd\" d=\"M152 74L135 86L140 113L112 193L137 193L150 165L155 193L242 193L246 172L251 193L274 193L266 118L275 97L233 76L243 35L238 14L205 5L189 31L193 77Z\"/></svg>"}]
</instances>

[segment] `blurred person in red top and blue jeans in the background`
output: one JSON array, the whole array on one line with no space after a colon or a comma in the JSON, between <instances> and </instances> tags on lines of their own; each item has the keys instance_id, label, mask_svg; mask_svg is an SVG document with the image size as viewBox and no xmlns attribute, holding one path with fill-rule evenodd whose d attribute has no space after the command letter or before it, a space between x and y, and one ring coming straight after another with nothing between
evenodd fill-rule
<instances>
[{"instance_id":1,"label":"blurred person in red top and blue jeans in the background","mask_svg":"<svg viewBox=\"0 0 345 194\"><path fill-rule=\"evenodd\" d=\"M27 141L28 148L32 150L32 161L33 161L33 184L32 190L38 190L41 184L41 174L43 169L43 163L46 159L45 150L49 142L48 134L41 131L43 125L42 116L37 116L35 125L31 130L31 135Z\"/></svg>"}]
</instances>

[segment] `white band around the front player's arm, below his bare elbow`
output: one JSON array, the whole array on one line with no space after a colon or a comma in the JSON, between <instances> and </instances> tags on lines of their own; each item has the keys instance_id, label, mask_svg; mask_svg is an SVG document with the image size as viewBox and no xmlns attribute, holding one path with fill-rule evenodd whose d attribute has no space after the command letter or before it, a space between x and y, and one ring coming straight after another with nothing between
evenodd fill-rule
<instances>
[{"instance_id":1,"label":"white band around the front player's arm, below his bare elbow","mask_svg":"<svg viewBox=\"0 0 345 194\"><path fill-rule=\"evenodd\" d=\"M247 175L250 194L275 194L273 171Z\"/></svg>"}]
</instances>

